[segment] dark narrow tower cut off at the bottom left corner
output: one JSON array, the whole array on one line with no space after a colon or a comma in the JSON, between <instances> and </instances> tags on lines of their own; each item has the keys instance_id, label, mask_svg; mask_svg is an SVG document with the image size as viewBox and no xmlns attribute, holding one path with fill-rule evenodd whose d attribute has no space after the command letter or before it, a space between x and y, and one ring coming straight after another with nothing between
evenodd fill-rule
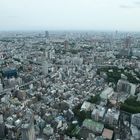
<instances>
[{"instance_id":1,"label":"dark narrow tower cut off at the bottom left corner","mask_svg":"<svg viewBox=\"0 0 140 140\"><path fill-rule=\"evenodd\" d=\"M5 137L5 124L3 121L3 115L0 114L0 139L4 139Z\"/></svg>"}]
</instances>

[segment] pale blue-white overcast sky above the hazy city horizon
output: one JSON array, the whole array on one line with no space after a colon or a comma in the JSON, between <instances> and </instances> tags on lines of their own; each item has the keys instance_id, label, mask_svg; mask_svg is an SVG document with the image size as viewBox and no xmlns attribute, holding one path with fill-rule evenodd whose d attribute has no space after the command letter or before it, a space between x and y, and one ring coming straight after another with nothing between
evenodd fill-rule
<instances>
[{"instance_id":1,"label":"pale blue-white overcast sky above the hazy city horizon","mask_svg":"<svg viewBox=\"0 0 140 140\"><path fill-rule=\"evenodd\" d=\"M140 31L140 0L0 0L0 30Z\"/></svg>"}]
</instances>

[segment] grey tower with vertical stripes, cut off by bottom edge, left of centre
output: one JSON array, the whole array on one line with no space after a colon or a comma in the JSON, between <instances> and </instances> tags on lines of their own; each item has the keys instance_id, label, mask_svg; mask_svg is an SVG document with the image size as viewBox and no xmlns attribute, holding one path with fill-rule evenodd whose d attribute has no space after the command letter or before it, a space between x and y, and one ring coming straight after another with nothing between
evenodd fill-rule
<instances>
[{"instance_id":1,"label":"grey tower with vertical stripes, cut off by bottom edge, left of centre","mask_svg":"<svg viewBox=\"0 0 140 140\"><path fill-rule=\"evenodd\" d=\"M34 130L34 118L32 114L25 115L21 128L22 140L36 140Z\"/></svg>"}]
</instances>

